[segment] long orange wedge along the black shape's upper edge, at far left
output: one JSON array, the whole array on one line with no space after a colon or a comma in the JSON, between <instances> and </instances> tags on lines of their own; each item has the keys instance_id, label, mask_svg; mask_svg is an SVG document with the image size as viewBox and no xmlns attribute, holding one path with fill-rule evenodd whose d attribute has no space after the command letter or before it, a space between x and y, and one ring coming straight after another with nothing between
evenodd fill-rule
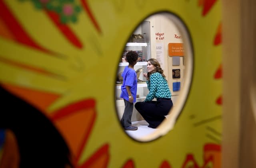
<instances>
[{"instance_id":1,"label":"long orange wedge along the black shape's upper edge, at far left","mask_svg":"<svg viewBox=\"0 0 256 168\"><path fill-rule=\"evenodd\" d=\"M2 87L12 94L20 97L22 100L28 102L29 104L32 104L34 107L38 108L45 114L46 108L60 97L60 95L57 94L11 84L3 84Z\"/></svg>"}]
</instances>

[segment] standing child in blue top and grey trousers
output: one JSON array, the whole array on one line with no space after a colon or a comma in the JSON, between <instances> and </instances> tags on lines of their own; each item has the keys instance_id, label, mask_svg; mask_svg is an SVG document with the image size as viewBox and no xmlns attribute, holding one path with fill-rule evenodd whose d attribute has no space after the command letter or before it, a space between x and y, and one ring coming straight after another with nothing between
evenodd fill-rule
<instances>
[{"instance_id":1,"label":"standing child in blue top and grey trousers","mask_svg":"<svg viewBox=\"0 0 256 168\"><path fill-rule=\"evenodd\" d=\"M121 118L121 125L124 130L135 131L138 127L132 125L132 111L133 103L136 102L137 93L137 74L134 70L134 65L137 63L138 54L135 51L129 51L126 54L126 60L129 63L128 66L124 68L122 73L123 84L121 86L120 98L124 99L124 114Z\"/></svg>"}]
</instances>

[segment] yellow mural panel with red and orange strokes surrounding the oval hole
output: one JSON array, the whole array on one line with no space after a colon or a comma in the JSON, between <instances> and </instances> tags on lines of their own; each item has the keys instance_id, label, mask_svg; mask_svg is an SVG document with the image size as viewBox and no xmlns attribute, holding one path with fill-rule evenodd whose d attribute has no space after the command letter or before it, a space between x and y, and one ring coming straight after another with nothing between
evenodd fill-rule
<instances>
[{"instance_id":1,"label":"yellow mural panel with red and orange strokes surrounding the oval hole","mask_svg":"<svg viewBox=\"0 0 256 168\"><path fill-rule=\"evenodd\" d=\"M119 125L115 73L135 27L162 11L186 24L194 72L174 129L141 143ZM20 167L220 168L220 11L219 0L0 0L0 168L10 130Z\"/></svg>"}]
</instances>

